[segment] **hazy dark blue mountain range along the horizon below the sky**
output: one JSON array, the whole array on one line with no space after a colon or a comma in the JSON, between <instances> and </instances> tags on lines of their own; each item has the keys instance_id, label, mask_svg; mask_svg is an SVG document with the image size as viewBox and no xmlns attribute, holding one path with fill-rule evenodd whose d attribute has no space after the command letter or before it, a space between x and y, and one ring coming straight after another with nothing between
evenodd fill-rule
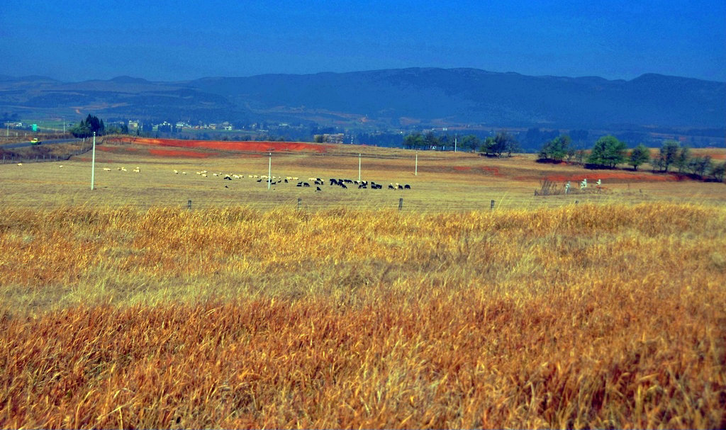
<instances>
[{"instance_id":1,"label":"hazy dark blue mountain range along the horizon below the sky","mask_svg":"<svg viewBox=\"0 0 726 430\"><path fill-rule=\"evenodd\" d=\"M409 68L152 82L0 76L0 112L110 119L279 121L343 128L725 128L726 83Z\"/></svg>"}]
</instances>

